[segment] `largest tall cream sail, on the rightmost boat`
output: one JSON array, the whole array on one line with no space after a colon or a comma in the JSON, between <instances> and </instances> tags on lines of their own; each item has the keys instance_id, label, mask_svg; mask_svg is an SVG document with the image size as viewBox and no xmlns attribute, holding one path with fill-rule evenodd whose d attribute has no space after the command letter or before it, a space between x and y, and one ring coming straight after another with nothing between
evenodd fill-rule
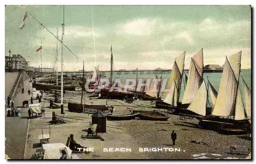
<instances>
[{"instance_id":1,"label":"largest tall cream sail, on the rightmost boat","mask_svg":"<svg viewBox=\"0 0 256 164\"><path fill-rule=\"evenodd\" d=\"M232 55L230 62L226 57L218 97L212 115L232 116L236 108L236 95L240 74L241 52ZM238 70L234 72L233 70Z\"/></svg>"}]
</instances>

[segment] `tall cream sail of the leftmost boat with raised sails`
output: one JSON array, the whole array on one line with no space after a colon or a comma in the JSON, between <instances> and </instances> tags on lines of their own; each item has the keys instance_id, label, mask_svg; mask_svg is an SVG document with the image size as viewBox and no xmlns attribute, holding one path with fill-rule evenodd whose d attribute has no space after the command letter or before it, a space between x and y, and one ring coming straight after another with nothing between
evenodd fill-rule
<instances>
[{"instance_id":1,"label":"tall cream sail of the leftmost boat with raised sails","mask_svg":"<svg viewBox=\"0 0 256 164\"><path fill-rule=\"evenodd\" d=\"M173 83L175 81L175 83L178 86L178 92L179 92L181 82L182 82L185 54L186 54L186 52L183 52L181 55L179 55L178 57L175 58L172 73L169 76L168 83L167 83L165 89L169 90L173 86ZM163 92L162 97L166 97L169 93L171 95L174 94L174 93L172 93L172 90L169 90L168 92Z\"/></svg>"}]
</instances>

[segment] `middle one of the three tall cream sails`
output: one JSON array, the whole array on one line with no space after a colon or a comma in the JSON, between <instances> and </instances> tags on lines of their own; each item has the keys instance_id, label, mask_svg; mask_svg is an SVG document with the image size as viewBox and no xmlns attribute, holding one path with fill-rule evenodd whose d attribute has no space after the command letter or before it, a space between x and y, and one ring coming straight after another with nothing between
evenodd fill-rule
<instances>
[{"instance_id":1,"label":"middle one of the three tall cream sails","mask_svg":"<svg viewBox=\"0 0 256 164\"><path fill-rule=\"evenodd\" d=\"M182 104L190 104L203 82L203 49L191 58Z\"/></svg>"}]
</instances>

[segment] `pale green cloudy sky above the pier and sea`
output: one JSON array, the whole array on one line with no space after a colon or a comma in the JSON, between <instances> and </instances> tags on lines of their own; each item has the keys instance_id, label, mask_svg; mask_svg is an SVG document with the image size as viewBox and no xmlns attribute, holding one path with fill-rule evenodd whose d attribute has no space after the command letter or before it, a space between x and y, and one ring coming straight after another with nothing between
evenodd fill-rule
<instances>
[{"instance_id":1,"label":"pale green cloudy sky above the pier and sea","mask_svg":"<svg viewBox=\"0 0 256 164\"><path fill-rule=\"evenodd\" d=\"M28 18L20 29L25 12ZM93 13L93 14L92 14ZM5 7L5 55L20 54L30 66L53 67L63 6ZM94 35L93 35L94 25ZM94 39L95 38L95 39ZM95 40L95 48L94 48ZM59 46L58 42L58 46ZM63 70L93 70L96 64L114 69L172 69L174 59L186 51L185 67L201 48L204 65L225 62L225 56L242 51L242 68L251 68L250 6L65 6ZM36 49L42 45L42 50ZM61 66L58 51L58 71Z\"/></svg>"}]
</instances>

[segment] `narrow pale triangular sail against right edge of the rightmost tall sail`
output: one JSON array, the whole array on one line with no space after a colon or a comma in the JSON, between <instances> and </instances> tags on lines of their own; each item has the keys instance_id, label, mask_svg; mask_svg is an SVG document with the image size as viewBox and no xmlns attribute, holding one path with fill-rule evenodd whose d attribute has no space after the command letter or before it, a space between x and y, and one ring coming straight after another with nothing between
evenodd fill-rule
<instances>
[{"instance_id":1,"label":"narrow pale triangular sail against right edge of the rightmost tall sail","mask_svg":"<svg viewBox=\"0 0 256 164\"><path fill-rule=\"evenodd\" d=\"M247 119L246 111L243 105L240 87L238 87L237 103L234 114L234 120L245 120Z\"/></svg>"}]
</instances>

